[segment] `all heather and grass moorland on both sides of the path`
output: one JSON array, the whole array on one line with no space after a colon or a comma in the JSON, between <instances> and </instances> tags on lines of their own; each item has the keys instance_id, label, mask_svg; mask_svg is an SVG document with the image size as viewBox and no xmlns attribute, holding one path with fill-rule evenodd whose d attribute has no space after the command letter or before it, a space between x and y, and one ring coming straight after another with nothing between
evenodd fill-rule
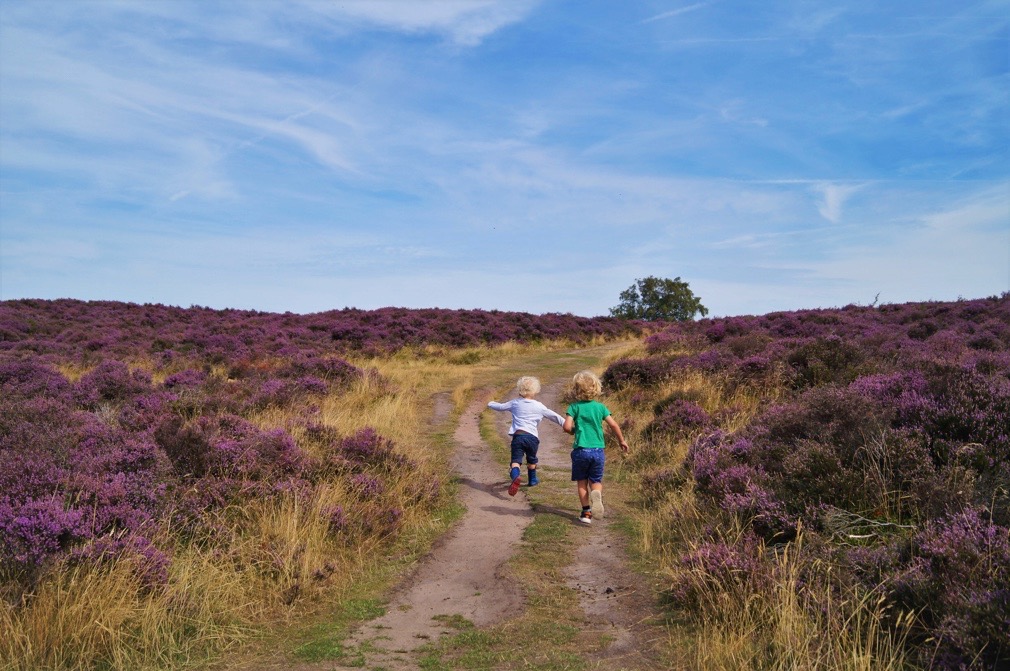
<instances>
[{"instance_id":1,"label":"all heather and grass moorland on both sides of the path","mask_svg":"<svg viewBox=\"0 0 1010 671\"><path fill-rule=\"evenodd\" d=\"M0 303L0 659L181 668L347 593L447 523L431 394L459 408L523 348L642 337L601 372L671 647L706 669L1010 659L1010 295L659 325Z\"/></svg>"}]
</instances>

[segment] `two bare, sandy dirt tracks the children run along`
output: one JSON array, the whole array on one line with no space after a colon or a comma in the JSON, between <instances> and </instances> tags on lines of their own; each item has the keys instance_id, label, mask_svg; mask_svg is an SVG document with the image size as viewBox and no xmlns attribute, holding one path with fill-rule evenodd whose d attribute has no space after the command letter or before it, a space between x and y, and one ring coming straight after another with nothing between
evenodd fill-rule
<instances>
[{"instance_id":1,"label":"two bare, sandy dirt tracks the children run along","mask_svg":"<svg viewBox=\"0 0 1010 671\"><path fill-rule=\"evenodd\" d=\"M564 412L558 400L560 387L557 383L547 386L539 398ZM435 400L433 423L437 424L446 408L444 399ZM449 618L462 616L483 628L521 612L522 591L507 575L507 562L519 547L534 510L525 487L514 497L508 495L507 467L495 460L481 439L480 416L486 402L487 398L479 395L461 416L453 435L452 466L462 482L461 498L467 512L394 590L386 614L366 622L347 639L347 649L361 653L346 662L354 668L413 671L419 668L418 649L450 633L446 627ZM493 416L503 443L508 445L508 413L495 412ZM574 560L566 571L568 585L579 594L589 627L608 642L602 654L594 654L596 668L655 669L642 652L650 647L642 639L647 628L638 627L652 610L648 590L629 570L622 539L611 529L620 511L609 507L592 526L579 522L575 486L568 470L571 439L549 421L541 423L539 433L540 467L549 475L547 485L566 492L571 488L570 508L542 511L567 517L578 528ZM288 668L324 671L351 667L330 661Z\"/></svg>"}]
</instances>

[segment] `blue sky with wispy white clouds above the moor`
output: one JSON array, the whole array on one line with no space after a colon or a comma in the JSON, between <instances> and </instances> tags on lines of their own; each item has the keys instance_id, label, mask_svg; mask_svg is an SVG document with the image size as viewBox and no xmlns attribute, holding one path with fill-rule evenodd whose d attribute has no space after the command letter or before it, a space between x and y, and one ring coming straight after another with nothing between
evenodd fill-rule
<instances>
[{"instance_id":1,"label":"blue sky with wispy white clouds above the moor","mask_svg":"<svg viewBox=\"0 0 1010 671\"><path fill-rule=\"evenodd\" d=\"M0 298L1000 294L1008 26L1006 0L0 0Z\"/></svg>"}]
</instances>

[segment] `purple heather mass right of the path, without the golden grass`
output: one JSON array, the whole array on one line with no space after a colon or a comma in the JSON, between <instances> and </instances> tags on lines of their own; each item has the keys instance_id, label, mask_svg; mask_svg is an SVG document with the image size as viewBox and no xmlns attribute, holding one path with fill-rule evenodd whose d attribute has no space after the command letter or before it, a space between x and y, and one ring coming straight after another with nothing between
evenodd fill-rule
<instances>
[{"instance_id":1,"label":"purple heather mass right of the path, without the golden grass","mask_svg":"<svg viewBox=\"0 0 1010 671\"><path fill-rule=\"evenodd\" d=\"M640 432L644 450L649 439L683 440L692 423L699 428L683 466L631 461L649 469L644 499L690 492L699 506L692 514L728 515L748 538L776 546L803 530L820 550L795 554L798 587L816 580L825 595L883 599L871 619L924 667L988 669L1008 658L1010 630L1008 333L1010 295L672 325L649 338L650 352L681 355L666 360L664 384L694 371L721 389L705 396L705 424L688 404L699 399L662 397L665 387L637 373L647 370L642 360L615 362L608 373L632 408L655 409ZM707 347L681 347L699 340ZM730 424L730 392L768 401ZM738 561L731 575L751 575L741 557L751 556L752 541L741 537L734 552L722 546L735 541L706 538L701 551L682 545L663 555L680 557L676 575L686 565L704 574L688 586L725 584L732 593L738 584L725 566ZM677 583L671 593L700 602L685 589ZM826 607L812 593L799 600Z\"/></svg>"}]
</instances>

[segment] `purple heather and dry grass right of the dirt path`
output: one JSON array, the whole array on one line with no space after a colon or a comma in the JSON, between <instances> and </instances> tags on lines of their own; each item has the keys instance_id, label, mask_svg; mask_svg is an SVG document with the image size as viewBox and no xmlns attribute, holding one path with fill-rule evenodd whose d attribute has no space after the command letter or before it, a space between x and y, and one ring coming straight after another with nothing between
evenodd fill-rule
<instances>
[{"instance_id":1,"label":"purple heather and dry grass right of the dirt path","mask_svg":"<svg viewBox=\"0 0 1010 671\"><path fill-rule=\"evenodd\" d=\"M603 381L698 668L1010 664L1010 295L672 324Z\"/></svg>"}]
</instances>

